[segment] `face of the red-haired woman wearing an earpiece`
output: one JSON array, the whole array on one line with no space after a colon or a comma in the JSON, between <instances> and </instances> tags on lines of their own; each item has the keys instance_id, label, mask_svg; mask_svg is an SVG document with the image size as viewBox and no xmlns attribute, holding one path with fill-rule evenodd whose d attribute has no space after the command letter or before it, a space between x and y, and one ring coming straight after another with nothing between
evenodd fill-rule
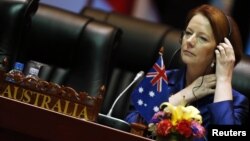
<instances>
[{"instance_id":1,"label":"face of the red-haired woman wearing an earpiece","mask_svg":"<svg viewBox=\"0 0 250 141\"><path fill-rule=\"evenodd\" d=\"M206 67L214 60L215 38L209 20L197 14L189 21L182 38L181 57L185 64Z\"/></svg>"}]
</instances>

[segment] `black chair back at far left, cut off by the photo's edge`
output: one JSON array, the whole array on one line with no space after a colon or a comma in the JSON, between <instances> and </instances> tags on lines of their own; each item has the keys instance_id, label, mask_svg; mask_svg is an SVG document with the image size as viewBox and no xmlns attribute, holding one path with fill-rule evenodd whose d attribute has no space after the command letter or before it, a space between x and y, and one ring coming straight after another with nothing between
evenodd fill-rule
<instances>
[{"instance_id":1,"label":"black chair back at far left, cut off by the photo's edge","mask_svg":"<svg viewBox=\"0 0 250 141\"><path fill-rule=\"evenodd\" d=\"M14 56L20 48L22 37L30 28L31 17L36 12L39 0L0 1L0 68L12 68ZM5 63L8 64L5 64Z\"/></svg>"}]
</instances>

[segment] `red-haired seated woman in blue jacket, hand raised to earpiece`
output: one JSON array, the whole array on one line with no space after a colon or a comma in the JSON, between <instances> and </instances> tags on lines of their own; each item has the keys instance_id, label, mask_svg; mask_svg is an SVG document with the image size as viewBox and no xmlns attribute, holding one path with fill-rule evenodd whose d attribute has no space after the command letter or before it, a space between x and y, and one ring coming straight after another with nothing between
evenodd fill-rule
<instances>
[{"instance_id":1,"label":"red-haired seated woman in blue jacket, hand raised to earpiece","mask_svg":"<svg viewBox=\"0 0 250 141\"><path fill-rule=\"evenodd\" d=\"M173 95L168 102L198 108L203 125L242 125L248 115L248 99L232 88L234 66L242 55L242 41L235 21L219 9L201 5L187 16L181 37L180 70L167 72ZM137 122L138 111L126 117ZM147 124L147 123L146 123Z\"/></svg>"}]
</instances>

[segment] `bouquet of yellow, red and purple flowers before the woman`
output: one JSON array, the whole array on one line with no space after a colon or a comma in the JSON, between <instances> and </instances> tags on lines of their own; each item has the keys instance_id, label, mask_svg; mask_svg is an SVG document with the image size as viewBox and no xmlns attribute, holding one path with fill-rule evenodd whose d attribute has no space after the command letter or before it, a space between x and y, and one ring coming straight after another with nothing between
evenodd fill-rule
<instances>
[{"instance_id":1,"label":"bouquet of yellow, red and purple flowers before the woman","mask_svg":"<svg viewBox=\"0 0 250 141\"><path fill-rule=\"evenodd\" d=\"M173 106L164 102L160 105L160 111L152 117L148 130L154 136L177 134L185 138L201 138L205 135L205 128L201 123L202 117L197 108Z\"/></svg>"}]
</instances>

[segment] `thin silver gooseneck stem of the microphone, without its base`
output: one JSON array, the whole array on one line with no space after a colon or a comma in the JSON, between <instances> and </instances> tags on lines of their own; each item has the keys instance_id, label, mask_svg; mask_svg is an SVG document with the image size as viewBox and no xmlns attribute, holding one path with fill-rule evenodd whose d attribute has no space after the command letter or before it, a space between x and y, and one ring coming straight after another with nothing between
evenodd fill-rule
<instances>
[{"instance_id":1,"label":"thin silver gooseneck stem of the microphone, without its base","mask_svg":"<svg viewBox=\"0 0 250 141\"><path fill-rule=\"evenodd\" d=\"M124 95L124 93L142 76L144 75L144 71L140 71L136 74L134 80L119 94L119 96L115 99L114 103L112 104L107 116L111 116L113 109L116 105L116 103L118 102L118 100Z\"/></svg>"}]
</instances>

